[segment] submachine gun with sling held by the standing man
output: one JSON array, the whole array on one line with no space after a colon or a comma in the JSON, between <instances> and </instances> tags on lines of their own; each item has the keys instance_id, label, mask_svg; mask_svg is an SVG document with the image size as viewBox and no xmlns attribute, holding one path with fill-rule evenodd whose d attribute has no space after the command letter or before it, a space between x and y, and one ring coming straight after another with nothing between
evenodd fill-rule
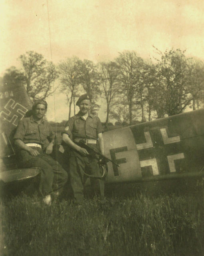
<instances>
[{"instance_id":1,"label":"submachine gun with sling held by the standing man","mask_svg":"<svg viewBox=\"0 0 204 256\"><path fill-rule=\"evenodd\" d=\"M95 149L93 149L92 147L87 145L83 140L79 140L78 145L81 148L85 148L87 150L87 152L89 153L89 155L91 155L94 158L96 158L98 160L99 167L101 169L103 169L102 176L101 177L95 177L95 178L105 178L105 176L107 175L107 172L108 172L107 162L109 162L109 161L119 167L119 164L117 164L116 162L113 162L111 159L107 158L106 156L104 156L100 152L96 151ZM92 176L90 174L86 174L86 173L84 173L84 174L89 176L89 177L94 177L94 176Z\"/></svg>"}]
</instances>

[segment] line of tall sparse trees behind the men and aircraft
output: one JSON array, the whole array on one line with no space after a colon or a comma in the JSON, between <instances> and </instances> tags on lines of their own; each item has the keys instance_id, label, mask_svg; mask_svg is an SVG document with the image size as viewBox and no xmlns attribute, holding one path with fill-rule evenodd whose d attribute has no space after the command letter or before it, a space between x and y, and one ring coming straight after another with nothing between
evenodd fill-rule
<instances>
[{"instance_id":1,"label":"line of tall sparse trees behind the men and aircraft","mask_svg":"<svg viewBox=\"0 0 204 256\"><path fill-rule=\"evenodd\" d=\"M154 47L155 48L155 47ZM204 95L204 63L187 58L185 51L170 49L144 60L134 51L123 51L112 61L95 64L74 56L58 65L42 54L30 51L19 57L22 70L6 70L3 84L22 82L32 100L53 93L53 82L67 95L69 117L75 103L87 93L91 112L99 110L99 98L106 102L106 126L110 118L117 124L134 124L200 108Z\"/></svg>"}]
</instances>

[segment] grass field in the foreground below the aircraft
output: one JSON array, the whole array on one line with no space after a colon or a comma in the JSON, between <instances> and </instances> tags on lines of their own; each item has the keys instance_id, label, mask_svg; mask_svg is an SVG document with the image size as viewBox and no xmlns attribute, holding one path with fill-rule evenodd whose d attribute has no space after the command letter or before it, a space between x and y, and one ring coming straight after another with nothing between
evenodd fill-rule
<instances>
[{"instance_id":1,"label":"grass field in the foreground below the aircraft","mask_svg":"<svg viewBox=\"0 0 204 256\"><path fill-rule=\"evenodd\" d=\"M147 192L117 185L104 203L88 196L81 208L65 199L45 206L35 195L4 200L1 255L204 255L202 189Z\"/></svg>"}]
</instances>

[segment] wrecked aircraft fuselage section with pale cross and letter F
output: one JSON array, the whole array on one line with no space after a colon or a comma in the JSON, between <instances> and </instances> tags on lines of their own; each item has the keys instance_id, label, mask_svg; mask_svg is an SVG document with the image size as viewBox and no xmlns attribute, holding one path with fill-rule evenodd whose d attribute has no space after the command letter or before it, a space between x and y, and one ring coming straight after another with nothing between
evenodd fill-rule
<instances>
[{"instance_id":1,"label":"wrecked aircraft fuselage section with pale cross and letter F","mask_svg":"<svg viewBox=\"0 0 204 256\"><path fill-rule=\"evenodd\" d=\"M162 118L104 133L106 182L158 180L204 169L204 110ZM187 176L187 175L186 175Z\"/></svg>"}]
</instances>

